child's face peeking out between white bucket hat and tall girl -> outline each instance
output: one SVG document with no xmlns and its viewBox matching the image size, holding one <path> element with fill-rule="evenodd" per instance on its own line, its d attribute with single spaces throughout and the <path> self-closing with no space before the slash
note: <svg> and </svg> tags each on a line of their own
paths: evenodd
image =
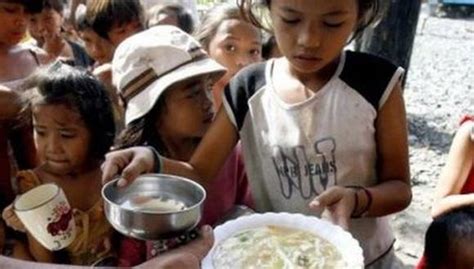
<svg viewBox="0 0 474 269">
<path fill-rule="evenodd" d="M 209 42 L 209 55 L 227 68 L 230 80 L 243 67 L 262 59 L 259 30 L 243 20 L 223 21 Z"/>
</svg>

